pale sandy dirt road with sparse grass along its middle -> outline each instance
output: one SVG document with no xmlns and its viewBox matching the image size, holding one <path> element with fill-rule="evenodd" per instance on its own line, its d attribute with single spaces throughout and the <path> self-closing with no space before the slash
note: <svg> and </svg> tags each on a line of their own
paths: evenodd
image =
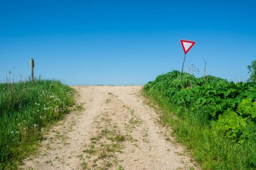
<svg viewBox="0 0 256 170">
<path fill-rule="evenodd" d="M 84 110 L 53 126 L 21 169 L 199 169 L 158 124 L 141 87 L 73 88 Z"/>
</svg>

